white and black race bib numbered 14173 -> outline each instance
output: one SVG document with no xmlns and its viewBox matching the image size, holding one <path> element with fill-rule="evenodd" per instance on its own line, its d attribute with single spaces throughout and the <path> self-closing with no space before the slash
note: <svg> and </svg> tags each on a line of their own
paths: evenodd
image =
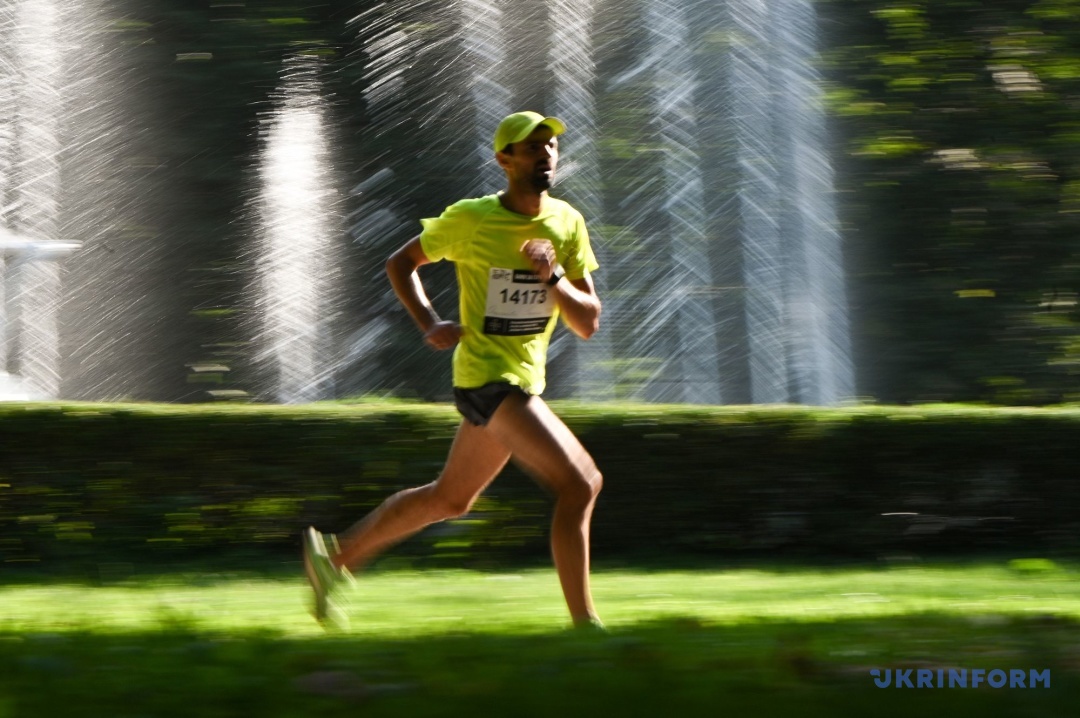
<svg viewBox="0 0 1080 718">
<path fill-rule="evenodd" d="M 492 267 L 487 275 L 484 334 L 503 337 L 541 334 L 555 311 L 550 288 L 528 270 Z"/>
</svg>

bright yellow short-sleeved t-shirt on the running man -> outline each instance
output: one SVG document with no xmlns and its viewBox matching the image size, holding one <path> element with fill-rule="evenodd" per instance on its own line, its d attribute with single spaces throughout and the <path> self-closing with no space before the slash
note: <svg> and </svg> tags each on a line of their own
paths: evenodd
<svg viewBox="0 0 1080 718">
<path fill-rule="evenodd" d="M 581 213 L 548 197 L 538 216 L 526 217 L 488 194 L 420 222 L 423 254 L 431 261 L 448 259 L 457 270 L 464 331 L 454 351 L 454 385 L 507 381 L 530 394 L 542 392 L 558 308 L 521 247 L 528 240 L 549 240 L 567 279 L 583 277 L 598 265 Z"/>
</svg>

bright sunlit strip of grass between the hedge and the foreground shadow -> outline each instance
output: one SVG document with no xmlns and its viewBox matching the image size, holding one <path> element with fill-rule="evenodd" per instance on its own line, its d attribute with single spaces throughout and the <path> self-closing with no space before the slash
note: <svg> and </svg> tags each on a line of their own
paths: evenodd
<svg viewBox="0 0 1080 718">
<path fill-rule="evenodd" d="M 1075 570 L 1014 566 L 608 570 L 594 577 L 593 591 L 605 622 L 616 631 L 673 619 L 738 625 L 920 613 L 1080 621 Z M 153 629 L 167 620 L 198 631 L 322 636 L 307 614 L 308 587 L 298 577 L 299 566 L 295 575 L 281 578 L 191 573 L 105 586 L 10 586 L 0 588 L 0 631 L 125 633 Z M 357 636 L 542 634 L 567 625 L 552 569 L 377 571 L 361 577 L 348 599 L 354 624 L 349 633 Z"/>
</svg>

